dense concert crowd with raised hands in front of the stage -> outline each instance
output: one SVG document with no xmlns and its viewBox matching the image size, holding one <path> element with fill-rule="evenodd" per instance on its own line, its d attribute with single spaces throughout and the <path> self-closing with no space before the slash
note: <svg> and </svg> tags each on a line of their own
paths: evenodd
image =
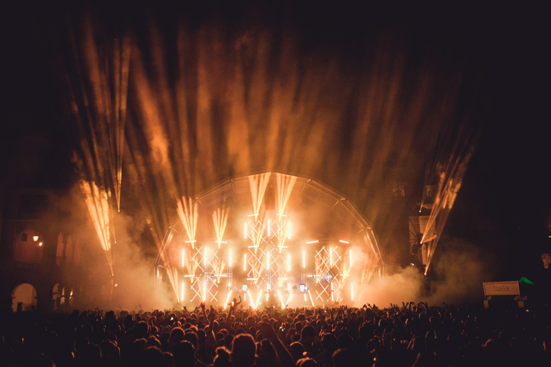
<svg viewBox="0 0 551 367">
<path fill-rule="evenodd" d="M 236 301 L 236 300 L 235 300 Z M 2 366 L 550 366 L 547 306 L 73 311 L 3 315 Z"/>
</svg>

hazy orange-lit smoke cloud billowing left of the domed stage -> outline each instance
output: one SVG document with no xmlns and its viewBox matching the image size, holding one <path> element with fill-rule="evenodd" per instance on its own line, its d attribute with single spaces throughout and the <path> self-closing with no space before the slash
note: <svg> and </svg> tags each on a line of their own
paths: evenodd
<svg viewBox="0 0 551 367">
<path fill-rule="evenodd" d="M 155 246 L 144 235 L 149 229 L 143 226 L 147 218 L 143 210 L 138 209 L 132 216 L 113 213 L 116 243 L 112 242 L 114 277 L 111 282 L 110 269 L 79 185 L 55 201 L 59 217 L 50 226 L 62 230 L 64 242 L 71 235 L 73 243 L 78 241 L 80 247 L 81 255 L 74 266 L 68 264 L 66 268 L 70 279 L 62 284 L 66 291 L 82 289 L 74 299 L 74 308 L 94 309 L 98 306 L 111 310 L 150 311 L 173 306 L 167 289 L 155 289 L 153 264 L 156 251 L 152 251 Z M 50 249 L 50 253 L 53 252 L 54 249 Z"/>
</svg>

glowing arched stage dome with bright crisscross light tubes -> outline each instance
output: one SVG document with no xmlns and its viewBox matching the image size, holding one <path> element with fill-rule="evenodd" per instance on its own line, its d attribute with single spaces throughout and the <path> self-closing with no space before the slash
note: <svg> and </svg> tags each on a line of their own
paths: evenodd
<svg viewBox="0 0 551 367">
<path fill-rule="evenodd" d="M 157 291 L 180 306 L 358 304 L 383 276 L 373 228 L 350 200 L 310 178 L 231 178 L 178 200 L 155 263 Z"/>
</svg>

